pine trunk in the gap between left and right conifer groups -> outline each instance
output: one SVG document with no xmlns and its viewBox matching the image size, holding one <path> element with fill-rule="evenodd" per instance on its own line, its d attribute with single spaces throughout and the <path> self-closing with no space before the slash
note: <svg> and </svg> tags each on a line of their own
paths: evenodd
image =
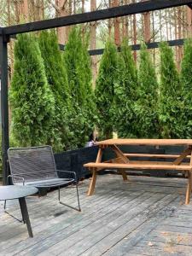
<svg viewBox="0 0 192 256">
<path fill-rule="evenodd" d="M 90 11 L 96 10 L 96 0 L 90 0 Z M 90 49 L 96 49 L 96 22 L 92 22 L 90 24 Z M 95 87 L 96 84 L 96 55 L 91 56 L 91 63 L 92 63 L 92 72 L 93 72 L 93 86 Z"/>
</svg>

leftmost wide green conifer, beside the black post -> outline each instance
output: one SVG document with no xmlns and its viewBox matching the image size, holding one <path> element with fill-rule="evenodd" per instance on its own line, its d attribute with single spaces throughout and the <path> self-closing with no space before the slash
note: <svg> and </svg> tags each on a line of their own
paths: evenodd
<svg viewBox="0 0 192 256">
<path fill-rule="evenodd" d="M 15 142 L 24 147 L 48 143 L 55 101 L 45 76 L 38 42 L 31 34 L 17 37 L 9 98 Z"/>
</svg>

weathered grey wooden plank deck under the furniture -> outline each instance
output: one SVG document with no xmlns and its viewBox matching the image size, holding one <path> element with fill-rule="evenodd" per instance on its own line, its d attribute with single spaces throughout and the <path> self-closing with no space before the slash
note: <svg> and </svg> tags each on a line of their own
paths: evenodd
<svg viewBox="0 0 192 256">
<path fill-rule="evenodd" d="M 192 203 L 183 205 L 183 178 L 98 177 L 88 197 L 89 180 L 79 186 L 82 212 L 57 203 L 57 192 L 27 198 L 34 238 L 26 225 L 0 210 L 0 255 L 192 255 Z M 73 203 L 75 189 L 62 189 Z M 75 206 L 75 204 L 73 204 Z M 9 212 L 20 217 L 17 201 Z"/>
</svg>

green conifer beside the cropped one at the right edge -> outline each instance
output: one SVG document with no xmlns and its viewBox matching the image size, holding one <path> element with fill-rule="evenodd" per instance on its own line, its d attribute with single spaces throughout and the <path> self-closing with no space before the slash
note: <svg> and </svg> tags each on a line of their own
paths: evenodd
<svg viewBox="0 0 192 256">
<path fill-rule="evenodd" d="M 160 102 L 159 119 L 161 137 L 182 137 L 181 86 L 172 49 L 160 44 Z"/>
</svg>

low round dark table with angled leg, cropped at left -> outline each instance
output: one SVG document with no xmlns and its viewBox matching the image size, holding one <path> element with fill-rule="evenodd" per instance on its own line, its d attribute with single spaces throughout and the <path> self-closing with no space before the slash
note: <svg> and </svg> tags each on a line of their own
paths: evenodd
<svg viewBox="0 0 192 256">
<path fill-rule="evenodd" d="M 24 224 L 26 224 L 28 234 L 30 237 L 32 235 L 32 227 L 29 219 L 29 214 L 26 207 L 26 196 L 33 195 L 38 192 L 37 188 L 31 186 L 19 186 L 19 185 L 9 185 L 0 186 L 0 201 L 7 201 L 18 199 L 20 202 L 20 212 L 23 218 Z"/>
</svg>

